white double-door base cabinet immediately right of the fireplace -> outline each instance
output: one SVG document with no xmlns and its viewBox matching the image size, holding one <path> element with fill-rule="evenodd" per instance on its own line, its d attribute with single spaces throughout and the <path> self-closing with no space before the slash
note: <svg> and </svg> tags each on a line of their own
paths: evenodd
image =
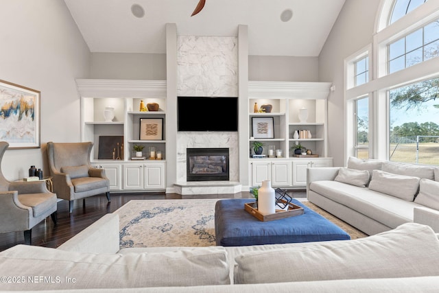
<svg viewBox="0 0 439 293">
<path fill-rule="evenodd" d="M 270 180 L 273 187 L 288 187 L 292 185 L 292 162 L 287 160 L 252 161 L 252 186 L 262 185 L 263 180 Z"/>
</svg>

